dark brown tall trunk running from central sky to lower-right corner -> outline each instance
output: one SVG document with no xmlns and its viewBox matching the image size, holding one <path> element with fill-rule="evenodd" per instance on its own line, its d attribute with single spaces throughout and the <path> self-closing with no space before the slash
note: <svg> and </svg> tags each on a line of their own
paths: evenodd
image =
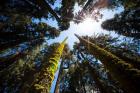
<svg viewBox="0 0 140 93">
<path fill-rule="evenodd" d="M 128 93 L 140 93 L 140 70 L 133 68 L 132 65 L 78 35 L 76 37 L 88 49 L 89 53 L 105 65 L 125 91 Z"/>
</svg>

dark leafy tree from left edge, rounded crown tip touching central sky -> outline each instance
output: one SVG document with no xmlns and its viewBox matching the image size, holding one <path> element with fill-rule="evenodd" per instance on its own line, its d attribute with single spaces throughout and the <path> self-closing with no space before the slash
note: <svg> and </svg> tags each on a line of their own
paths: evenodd
<svg viewBox="0 0 140 93">
<path fill-rule="evenodd" d="M 19 17 L 20 15 L 18 15 Z M 25 17 L 26 19 L 26 17 Z M 18 44 L 34 41 L 36 39 L 55 38 L 59 36 L 60 30 L 49 26 L 46 23 L 39 22 L 20 22 L 21 19 L 16 20 L 14 23 L 5 23 L 1 28 L 1 50 L 16 46 Z"/>
</svg>

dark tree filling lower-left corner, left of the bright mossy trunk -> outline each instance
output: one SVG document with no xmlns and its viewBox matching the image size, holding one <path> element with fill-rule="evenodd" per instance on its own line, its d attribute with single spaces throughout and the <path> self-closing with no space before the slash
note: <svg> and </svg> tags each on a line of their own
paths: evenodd
<svg viewBox="0 0 140 93">
<path fill-rule="evenodd" d="M 42 43 L 30 46 L 25 55 L 19 56 L 8 67 L 0 71 L 0 92 L 19 93 L 23 83 L 29 79 L 29 75 L 36 72 L 35 60 L 38 58 Z"/>
</svg>

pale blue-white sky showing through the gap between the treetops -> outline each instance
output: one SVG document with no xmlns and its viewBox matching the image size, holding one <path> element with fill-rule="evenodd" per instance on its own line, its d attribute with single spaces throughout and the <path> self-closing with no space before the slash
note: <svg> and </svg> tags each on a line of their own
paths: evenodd
<svg viewBox="0 0 140 93">
<path fill-rule="evenodd" d="M 77 7 L 75 7 L 74 12 L 77 12 L 78 10 L 80 10 L 80 8 L 77 6 Z M 86 18 L 83 22 L 81 22 L 79 24 L 75 24 L 73 21 L 71 21 L 70 27 L 68 30 L 61 32 L 59 37 L 57 37 L 55 39 L 50 39 L 48 42 L 49 42 L 49 44 L 52 44 L 54 42 L 61 42 L 64 40 L 65 37 L 68 36 L 67 44 L 69 45 L 69 47 L 71 49 L 73 49 L 74 42 L 78 42 L 78 39 L 74 36 L 74 34 L 78 34 L 80 36 L 82 36 L 82 35 L 91 36 L 93 34 L 100 34 L 100 33 L 109 34 L 108 31 L 103 30 L 101 28 L 101 23 L 106 19 L 110 19 L 110 18 L 114 17 L 115 13 L 120 13 L 122 10 L 123 9 L 121 7 L 119 7 L 115 11 L 107 10 L 107 9 L 102 10 L 101 13 L 104 16 L 99 22 L 96 22 L 90 18 Z M 55 22 L 55 21 L 49 20 L 49 21 L 47 21 L 47 23 L 49 23 L 50 25 L 52 25 L 54 27 L 57 27 L 57 22 Z M 117 35 L 113 32 L 110 34 L 113 34 L 113 36 Z"/>
</svg>

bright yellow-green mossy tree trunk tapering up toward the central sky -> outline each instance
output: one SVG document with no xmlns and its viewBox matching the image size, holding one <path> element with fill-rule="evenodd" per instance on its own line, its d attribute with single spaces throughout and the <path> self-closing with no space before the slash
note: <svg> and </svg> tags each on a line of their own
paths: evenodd
<svg viewBox="0 0 140 93">
<path fill-rule="evenodd" d="M 56 48 L 49 58 L 49 61 L 43 65 L 41 71 L 35 76 L 29 89 L 30 93 L 49 93 L 66 39 Z"/>
</svg>

